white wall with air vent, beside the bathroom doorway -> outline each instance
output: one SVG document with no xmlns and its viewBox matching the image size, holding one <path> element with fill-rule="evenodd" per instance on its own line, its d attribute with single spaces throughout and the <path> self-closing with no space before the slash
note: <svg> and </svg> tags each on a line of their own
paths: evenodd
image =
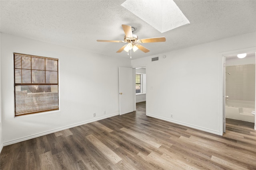
<svg viewBox="0 0 256 170">
<path fill-rule="evenodd" d="M 248 33 L 132 60 L 132 67 L 147 65 L 146 115 L 222 135 L 222 53 L 256 47 L 255 37 Z"/>
</svg>

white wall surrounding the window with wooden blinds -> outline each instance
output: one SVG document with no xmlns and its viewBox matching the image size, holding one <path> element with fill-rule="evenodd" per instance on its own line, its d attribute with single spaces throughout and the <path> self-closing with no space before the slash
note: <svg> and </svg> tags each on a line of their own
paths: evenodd
<svg viewBox="0 0 256 170">
<path fill-rule="evenodd" d="M 14 52 L 59 59 L 59 111 L 14 118 Z M 130 59 L 1 33 L 4 145 L 119 114 L 119 66 L 130 67 Z"/>
</svg>

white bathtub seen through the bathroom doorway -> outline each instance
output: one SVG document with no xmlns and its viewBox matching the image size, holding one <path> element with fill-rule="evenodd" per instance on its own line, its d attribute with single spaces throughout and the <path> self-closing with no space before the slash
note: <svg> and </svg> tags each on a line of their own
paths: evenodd
<svg viewBox="0 0 256 170">
<path fill-rule="evenodd" d="M 226 100 L 226 118 L 254 122 L 255 102 L 243 100 Z"/>
</svg>

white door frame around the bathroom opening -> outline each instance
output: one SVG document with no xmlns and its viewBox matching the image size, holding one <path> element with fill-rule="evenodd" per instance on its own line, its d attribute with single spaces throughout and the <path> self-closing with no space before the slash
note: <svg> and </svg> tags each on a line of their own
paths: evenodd
<svg viewBox="0 0 256 170">
<path fill-rule="evenodd" d="M 225 116 L 225 113 L 224 113 L 224 103 L 226 104 L 226 100 L 224 100 L 224 96 L 226 96 L 225 94 L 225 90 L 224 88 L 226 89 L 226 83 L 224 84 L 224 81 L 226 82 L 226 79 L 224 80 L 225 78 L 225 73 L 226 73 L 226 68 L 224 67 L 224 57 L 226 55 L 232 55 L 232 54 L 240 54 L 240 53 L 253 53 L 255 52 L 256 54 L 256 47 L 250 47 L 250 48 L 244 48 L 244 49 L 237 49 L 237 50 L 233 50 L 233 51 L 226 51 L 226 52 L 221 52 L 219 53 L 219 59 L 222 61 L 222 64 L 221 64 L 221 68 L 220 68 L 220 77 L 221 77 L 221 83 L 220 83 L 220 89 L 221 89 L 221 93 L 220 93 L 220 135 L 223 135 L 224 133 L 224 116 Z M 256 58 L 256 57 L 255 57 Z M 256 72 L 256 70 L 255 70 Z M 256 76 L 255 76 L 255 80 L 256 80 Z M 255 84 L 255 89 L 256 89 L 256 84 Z M 255 91 L 255 101 L 256 101 L 256 91 Z M 255 108 L 256 108 L 256 104 L 255 104 Z M 226 119 L 226 117 L 225 117 Z M 256 130 L 256 116 L 255 116 L 255 121 L 254 121 L 254 130 Z"/>
</svg>

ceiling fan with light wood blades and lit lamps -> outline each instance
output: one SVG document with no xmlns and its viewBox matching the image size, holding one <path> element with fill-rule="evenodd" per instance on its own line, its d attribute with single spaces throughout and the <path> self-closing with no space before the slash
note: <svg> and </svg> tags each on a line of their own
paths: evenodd
<svg viewBox="0 0 256 170">
<path fill-rule="evenodd" d="M 134 52 L 138 49 L 143 51 L 144 53 L 148 53 L 149 49 L 146 49 L 140 43 L 157 43 L 157 42 L 165 42 L 165 37 L 156 37 L 156 38 L 146 38 L 146 39 L 138 39 L 138 36 L 135 34 L 132 34 L 133 31 L 136 29 L 134 27 L 131 27 L 130 25 L 122 25 L 124 29 L 124 41 L 118 41 L 118 40 L 97 40 L 98 42 L 112 42 L 112 43 L 127 43 L 123 47 L 121 47 L 116 53 L 120 53 L 123 50 L 128 52 L 129 50 L 133 50 Z"/>
</svg>

